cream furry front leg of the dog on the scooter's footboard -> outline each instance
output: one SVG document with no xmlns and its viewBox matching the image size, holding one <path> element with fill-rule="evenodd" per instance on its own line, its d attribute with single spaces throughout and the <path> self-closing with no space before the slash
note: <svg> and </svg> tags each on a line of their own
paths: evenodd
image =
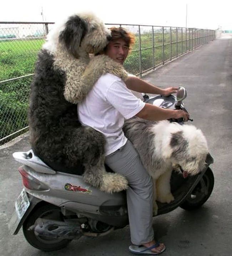
<svg viewBox="0 0 232 256">
<path fill-rule="evenodd" d="M 157 201 L 161 203 L 170 203 L 174 200 L 171 193 L 170 179 L 172 169 L 166 171 L 156 180 Z"/>
</svg>

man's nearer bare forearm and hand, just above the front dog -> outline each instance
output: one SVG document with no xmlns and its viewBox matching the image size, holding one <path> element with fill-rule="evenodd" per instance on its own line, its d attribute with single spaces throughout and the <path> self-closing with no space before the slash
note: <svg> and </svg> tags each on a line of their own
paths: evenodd
<svg viewBox="0 0 232 256">
<path fill-rule="evenodd" d="M 137 117 L 153 120 L 153 121 L 161 121 L 167 119 L 178 119 L 183 117 L 184 121 L 188 121 L 189 114 L 183 110 L 172 110 L 172 109 L 162 109 L 161 107 L 157 107 L 151 104 L 145 104 L 145 106 L 136 114 Z"/>
</svg>

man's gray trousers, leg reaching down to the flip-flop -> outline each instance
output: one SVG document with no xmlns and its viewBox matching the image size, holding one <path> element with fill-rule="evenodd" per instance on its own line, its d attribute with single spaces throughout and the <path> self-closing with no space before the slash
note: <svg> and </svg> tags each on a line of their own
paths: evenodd
<svg viewBox="0 0 232 256">
<path fill-rule="evenodd" d="M 141 245 L 152 241 L 153 184 L 137 151 L 127 140 L 124 146 L 106 156 L 105 162 L 128 180 L 126 195 L 132 244 Z"/>
</svg>

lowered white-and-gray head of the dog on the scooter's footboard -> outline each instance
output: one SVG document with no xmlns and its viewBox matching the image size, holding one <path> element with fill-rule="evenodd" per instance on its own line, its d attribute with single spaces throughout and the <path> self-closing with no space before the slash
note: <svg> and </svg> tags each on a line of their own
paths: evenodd
<svg viewBox="0 0 232 256">
<path fill-rule="evenodd" d="M 182 131 L 172 133 L 170 147 L 174 168 L 186 177 L 196 175 L 205 168 L 208 147 L 201 130 L 184 126 Z"/>
</svg>

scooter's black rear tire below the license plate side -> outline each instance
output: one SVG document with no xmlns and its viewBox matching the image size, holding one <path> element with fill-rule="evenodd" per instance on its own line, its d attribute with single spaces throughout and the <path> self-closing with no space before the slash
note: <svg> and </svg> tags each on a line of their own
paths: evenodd
<svg viewBox="0 0 232 256">
<path fill-rule="evenodd" d="M 35 224 L 35 221 L 38 218 L 43 217 L 46 217 L 46 219 L 63 221 L 59 207 L 47 203 L 37 205 L 37 207 L 29 214 L 22 226 L 22 230 L 27 242 L 42 251 L 59 250 L 67 246 L 72 240 L 37 236 L 34 233 L 34 229 L 28 230 L 29 227 Z"/>
</svg>

